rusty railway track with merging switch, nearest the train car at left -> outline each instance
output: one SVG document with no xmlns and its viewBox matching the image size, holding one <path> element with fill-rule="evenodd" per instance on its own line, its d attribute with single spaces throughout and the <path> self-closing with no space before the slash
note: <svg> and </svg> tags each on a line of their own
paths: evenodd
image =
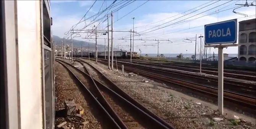
<svg viewBox="0 0 256 129">
<path fill-rule="evenodd" d="M 117 92 L 118 87 L 113 86 L 113 82 L 111 83 L 110 80 L 110 82 L 105 81 L 108 79 L 105 78 L 103 74 L 101 74 L 99 71 L 97 72 L 96 69 L 94 69 L 95 71 L 93 73 L 93 66 L 91 66 L 91 69 L 89 69 L 88 64 L 86 65 L 85 62 L 77 60 L 79 63 L 83 64 L 85 68 L 81 69 L 75 68 L 75 66 L 65 61 L 58 61 L 65 64 L 67 68 L 73 71 L 75 76 L 78 77 L 81 82 L 86 83 L 87 85 L 91 84 L 91 86 L 87 86 L 87 89 L 99 99 L 100 104 L 102 104 L 105 110 L 109 112 L 113 120 L 122 129 L 174 129 L 170 124 L 166 123 L 158 116 L 154 115 L 145 107 L 139 107 L 139 103 L 137 102 L 138 104 L 136 104 L 136 101 L 134 99 L 132 99 L 124 92 L 120 92 L 122 91 L 121 89 L 119 90 L 119 92 Z M 87 81 L 84 80 L 84 77 L 87 77 Z M 89 81 L 90 79 L 91 81 Z M 115 89 L 115 91 L 110 89 L 111 87 L 115 87 L 113 88 Z"/>
</svg>

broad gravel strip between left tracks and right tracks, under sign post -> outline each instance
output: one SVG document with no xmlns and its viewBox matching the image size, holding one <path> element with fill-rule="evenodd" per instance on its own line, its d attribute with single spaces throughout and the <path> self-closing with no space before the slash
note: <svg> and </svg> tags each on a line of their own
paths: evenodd
<svg viewBox="0 0 256 129">
<path fill-rule="evenodd" d="M 88 61 L 88 60 L 86 60 Z M 122 76 L 122 71 L 107 70 L 107 66 L 89 61 L 138 102 L 177 129 L 255 129 L 255 125 L 234 116 L 220 116 L 210 107 L 170 94 L 167 91 L 152 88 L 162 83 L 143 82 L 148 80 L 141 76 Z M 215 121 L 221 118 L 221 121 Z M 236 125 L 238 124 L 238 125 Z"/>
</svg>

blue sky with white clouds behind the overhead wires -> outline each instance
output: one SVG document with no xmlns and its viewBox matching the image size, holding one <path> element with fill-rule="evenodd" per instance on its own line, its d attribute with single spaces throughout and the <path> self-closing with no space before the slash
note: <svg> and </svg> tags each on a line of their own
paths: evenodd
<svg viewBox="0 0 256 129">
<path fill-rule="evenodd" d="M 239 22 L 253 19 L 256 14 L 255 6 L 235 9 L 239 6 L 235 4 L 245 4 L 245 0 L 135 0 L 131 2 L 117 0 L 112 9 L 107 11 L 105 9 L 114 2 L 113 0 L 94 2 L 95 0 L 51 0 L 53 35 L 70 38 L 70 35 L 65 33 L 70 32 L 72 26 L 80 20 L 82 22 L 73 26 L 74 30 L 92 29 L 95 25 L 97 30 L 103 32 L 107 30 L 106 14 L 113 11 L 113 46 L 119 46 L 119 49 L 130 50 L 129 31 L 133 30 L 134 25 L 134 31 L 139 33 L 139 35 L 134 33 L 134 51 L 136 52 L 140 49 L 142 53 L 157 53 L 157 41 L 143 40 L 156 39 L 160 40 L 159 53 L 194 53 L 195 40 L 197 41 L 196 53 L 199 53 L 200 38 L 198 37 L 204 36 L 204 25 L 231 19 L 237 19 Z M 117 10 L 126 2 L 129 3 Z M 247 2 L 253 2 L 256 5 L 255 0 Z M 247 17 L 233 13 L 233 9 L 238 13 L 246 14 Z M 85 14 L 86 16 L 83 17 Z M 111 18 L 109 15 L 109 29 L 112 28 Z M 87 27 L 84 28 L 85 26 Z M 90 35 L 93 34 L 79 33 L 73 39 L 95 43 L 94 39 L 85 39 L 88 36 L 95 38 L 95 34 Z M 109 36 L 111 38 L 111 33 Z M 107 35 L 99 34 L 97 38 L 97 44 L 104 44 L 104 38 L 107 39 Z M 191 40 L 185 40 L 186 38 Z M 204 38 L 201 41 L 204 44 Z M 211 50 L 207 48 L 206 51 L 218 52 L 214 48 Z M 238 53 L 238 47 L 228 47 L 224 49 L 224 53 Z"/>
</svg>

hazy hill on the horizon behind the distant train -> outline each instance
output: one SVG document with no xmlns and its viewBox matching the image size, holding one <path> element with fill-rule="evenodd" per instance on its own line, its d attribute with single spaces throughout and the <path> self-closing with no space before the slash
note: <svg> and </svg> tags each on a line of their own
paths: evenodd
<svg viewBox="0 0 256 129">
<path fill-rule="evenodd" d="M 60 50 L 62 46 L 63 38 L 53 35 L 53 41 L 55 42 L 56 49 Z M 71 39 L 65 39 L 65 44 L 71 44 Z M 90 50 L 92 51 L 95 50 L 95 42 L 86 42 L 86 41 L 79 41 L 79 40 L 73 39 L 73 48 L 74 48 L 73 50 L 76 50 L 76 49 L 80 50 L 81 45 L 83 47 L 83 51 L 86 49 L 89 49 L 89 45 L 90 45 Z M 104 45 L 97 45 L 97 46 L 98 46 L 98 52 L 104 51 Z M 107 44 L 106 44 L 106 50 L 107 50 Z M 114 50 L 117 50 L 117 48 L 114 47 Z"/>
</svg>

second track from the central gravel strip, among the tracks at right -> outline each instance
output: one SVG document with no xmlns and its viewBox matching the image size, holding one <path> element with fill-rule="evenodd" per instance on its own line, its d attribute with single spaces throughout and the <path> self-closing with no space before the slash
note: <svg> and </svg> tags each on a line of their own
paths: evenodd
<svg viewBox="0 0 256 129">
<path fill-rule="evenodd" d="M 122 63 L 123 65 L 134 66 L 135 64 L 130 64 L 127 62 L 118 61 L 118 63 Z M 158 73 L 164 76 L 172 77 L 175 79 L 188 80 L 193 83 L 200 83 L 208 87 L 217 88 L 218 79 L 216 77 L 211 76 L 202 76 L 200 74 L 192 74 L 189 72 L 181 72 L 175 71 L 166 68 L 153 67 L 148 65 L 139 65 L 136 64 L 136 67 L 139 69 L 144 69 L 145 71 L 152 71 L 154 69 L 154 73 Z M 244 83 L 235 80 L 224 79 L 224 90 L 233 91 L 240 94 L 244 94 L 248 97 L 255 98 L 256 94 L 256 85 L 254 83 Z"/>
</svg>

